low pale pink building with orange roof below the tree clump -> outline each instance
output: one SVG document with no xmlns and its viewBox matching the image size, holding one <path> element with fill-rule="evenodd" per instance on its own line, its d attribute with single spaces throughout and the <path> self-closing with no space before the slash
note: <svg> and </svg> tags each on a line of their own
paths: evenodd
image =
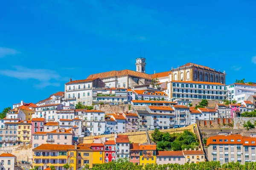
<svg viewBox="0 0 256 170">
<path fill-rule="evenodd" d="M 157 151 L 157 164 L 185 164 L 182 151 Z"/>
</svg>

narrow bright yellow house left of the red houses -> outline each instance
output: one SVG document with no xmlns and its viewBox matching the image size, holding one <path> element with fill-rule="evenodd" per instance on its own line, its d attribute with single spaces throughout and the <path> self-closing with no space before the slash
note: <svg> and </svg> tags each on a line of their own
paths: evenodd
<svg viewBox="0 0 256 170">
<path fill-rule="evenodd" d="M 93 164 L 105 163 L 104 144 L 92 143 L 91 149 L 93 150 Z"/>
</svg>

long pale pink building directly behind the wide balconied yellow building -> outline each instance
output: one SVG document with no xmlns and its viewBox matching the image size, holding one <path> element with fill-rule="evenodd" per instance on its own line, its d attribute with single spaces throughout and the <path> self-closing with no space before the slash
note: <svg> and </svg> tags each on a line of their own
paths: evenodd
<svg viewBox="0 0 256 170">
<path fill-rule="evenodd" d="M 51 132 L 35 132 L 32 134 L 32 149 L 41 144 L 72 144 L 72 131 L 56 129 Z"/>
</svg>

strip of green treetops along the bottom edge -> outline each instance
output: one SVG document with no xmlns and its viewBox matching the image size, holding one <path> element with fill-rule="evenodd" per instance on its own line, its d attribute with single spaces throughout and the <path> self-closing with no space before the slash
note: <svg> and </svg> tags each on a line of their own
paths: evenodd
<svg viewBox="0 0 256 170">
<path fill-rule="evenodd" d="M 219 161 L 207 161 L 185 164 L 147 164 L 144 169 L 141 165 L 133 164 L 128 159 L 119 159 L 105 164 L 96 164 L 92 170 L 255 170 L 256 162 L 229 162 L 222 164 Z"/>
</svg>

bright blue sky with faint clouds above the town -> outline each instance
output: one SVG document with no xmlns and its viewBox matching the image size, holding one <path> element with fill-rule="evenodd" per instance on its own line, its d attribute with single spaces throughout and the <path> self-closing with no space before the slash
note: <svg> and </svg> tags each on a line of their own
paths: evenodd
<svg viewBox="0 0 256 170">
<path fill-rule="evenodd" d="M 64 83 L 193 62 L 256 82 L 255 1 L 13 0 L 0 6 L 0 111 L 38 102 Z"/>
</svg>

